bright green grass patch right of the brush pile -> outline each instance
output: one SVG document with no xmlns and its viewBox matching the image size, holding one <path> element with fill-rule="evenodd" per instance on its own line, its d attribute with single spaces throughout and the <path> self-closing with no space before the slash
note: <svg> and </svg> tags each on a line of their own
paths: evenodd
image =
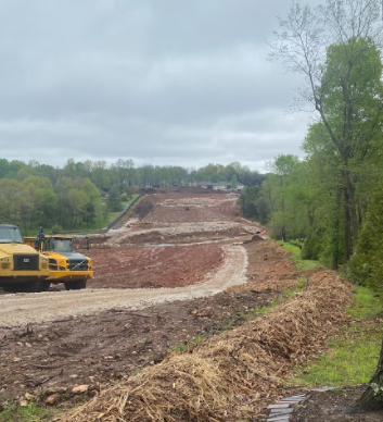
<svg viewBox="0 0 383 422">
<path fill-rule="evenodd" d="M 381 321 L 374 318 L 382 312 L 382 301 L 366 287 L 354 290 L 348 314 L 358 320 L 344 326 L 343 333 L 329 342 L 329 350 L 315 363 L 298 369 L 292 380 L 294 384 L 341 386 L 371 380 L 382 344 Z"/>
</svg>

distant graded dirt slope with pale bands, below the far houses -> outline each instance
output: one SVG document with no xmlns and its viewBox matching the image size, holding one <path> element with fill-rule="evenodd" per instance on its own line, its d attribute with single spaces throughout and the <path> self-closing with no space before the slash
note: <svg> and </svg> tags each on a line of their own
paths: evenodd
<svg viewBox="0 0 383 422">
<path fill-rule="evenodd" d="M 140 222 L 122 227 L 106 245 L 194 244 L 252 235 L 259 228 L 239 216 L 238 198 L 216 193 L 148 196 L 138 206 Z"/>
</svg>

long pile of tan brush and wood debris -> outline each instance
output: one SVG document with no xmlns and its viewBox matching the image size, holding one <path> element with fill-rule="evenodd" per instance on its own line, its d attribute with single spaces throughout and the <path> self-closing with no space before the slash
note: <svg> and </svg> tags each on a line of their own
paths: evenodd
<svg viewBox="0 0 383 422">
<path fill-rule="evenodd" d="M 330 271 L 267 314 L 105 388 L 64 421 L 229 421 L 254 418 L 295 364 L 345 320 L 347 283 Z"/>
</svg>

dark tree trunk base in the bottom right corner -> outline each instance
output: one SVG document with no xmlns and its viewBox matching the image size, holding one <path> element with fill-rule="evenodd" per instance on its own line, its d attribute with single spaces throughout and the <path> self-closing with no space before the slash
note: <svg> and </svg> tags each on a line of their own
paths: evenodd
<svg viewBox="0 0 383 422">
<path fill-rule="evenodd" d="M 356 402 L 354 410 L 383 410 L 383 342 L 378 368 L 366 392 Z"/>
</svg>

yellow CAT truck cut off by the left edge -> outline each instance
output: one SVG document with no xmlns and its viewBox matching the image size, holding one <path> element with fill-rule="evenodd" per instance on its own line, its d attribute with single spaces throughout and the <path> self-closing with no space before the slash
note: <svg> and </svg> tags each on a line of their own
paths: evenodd
<svg viewBox="0 0 383 422">
<path fill-rule="evenodd" d="M 5 291 L 41 291 L 49 276 L 48 258 L 24 245 L 16 225 L 0 224 L 0 287 Z"/>
</svg>

